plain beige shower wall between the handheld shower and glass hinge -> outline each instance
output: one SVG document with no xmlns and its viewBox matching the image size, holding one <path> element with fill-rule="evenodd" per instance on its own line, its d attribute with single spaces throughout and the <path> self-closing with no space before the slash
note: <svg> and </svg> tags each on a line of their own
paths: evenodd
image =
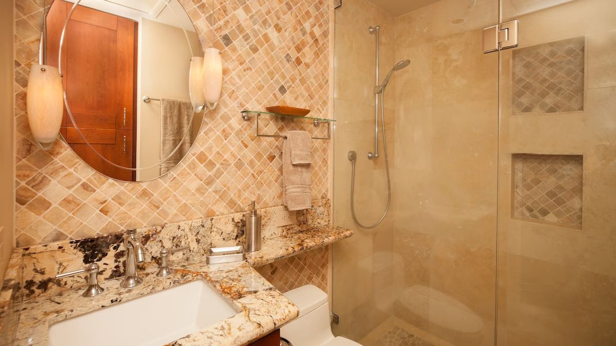
<svg viewBox="0 0 616 346">
<path fill-rule="evenodd" d="M 493 345 L 498 1 L 443 0 L 395 18 L 394 316 L 453 345 Z"/>
</svg>

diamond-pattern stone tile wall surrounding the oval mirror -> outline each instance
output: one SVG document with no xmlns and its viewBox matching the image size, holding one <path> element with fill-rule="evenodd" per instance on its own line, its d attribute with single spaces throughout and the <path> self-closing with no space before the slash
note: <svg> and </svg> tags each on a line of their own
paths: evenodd
<svg viewBox="0 0 616 346">
<path fill-rule="evenodd" d="M 257 138 L 241 110 L 309 108 L 328 118 L 326 1 L 180 0 L 203 47 L 221 49 L 224 83 L 187 157 L 161 179 L 118 182 L 93 171 L 57 141 L 40 150 L 28 127 L 26 86 L 38 60 L 41 0 L 15 0 L 17 246 L 113 233 L 282 204 L 282 140 Z M 280 122 L 277 131 L 306 128 Z M 323 131 L 323 129 L 314 129 Z M 312 196 L 328 195 L 328 141 L 312 142 Z"/>
</svg>

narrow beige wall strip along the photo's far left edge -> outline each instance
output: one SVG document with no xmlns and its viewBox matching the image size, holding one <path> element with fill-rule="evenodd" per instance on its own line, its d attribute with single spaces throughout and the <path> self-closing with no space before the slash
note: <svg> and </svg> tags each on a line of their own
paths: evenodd
<svg viewBox="0 0 616 346">
<path fill-rule="evenodd" d="M 0 279 L 14 247 L 13 7 L 10 0 L 0 3 Z"/>
</svg>

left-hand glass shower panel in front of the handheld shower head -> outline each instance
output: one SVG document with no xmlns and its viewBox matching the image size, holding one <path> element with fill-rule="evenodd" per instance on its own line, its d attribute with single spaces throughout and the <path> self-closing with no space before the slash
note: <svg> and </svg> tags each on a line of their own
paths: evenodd
<svg viewBox="0 0 616 346">
<path fill-rule="evenodd" d="M 482 53 L 482 28 L 496 23 L 498 0 L 397 15 L 345 0 L 335 10 L 333 222 L 355 234 L 333 246 L 334 334 L 363 345 L 494 345 L 498 53 Z M 387 202 L 383 153 L 367 158 L 375 25 L 381 79 L 411 63 L 384 95 L 391 208 L 366 230 L 351 217 L 347 155 L 357 153 L 354 205 L 369 225 Z"/>
</svg>

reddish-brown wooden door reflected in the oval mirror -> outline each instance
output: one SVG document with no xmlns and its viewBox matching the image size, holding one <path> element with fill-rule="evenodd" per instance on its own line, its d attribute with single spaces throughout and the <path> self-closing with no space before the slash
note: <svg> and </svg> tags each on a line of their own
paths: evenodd
<svg viewBox="0 0 616 346">
<path fill-rule="evenodd" d="M 54 1 L 47 15 L 47 62 L 57 66 L 60 33 L 72 4 Z M 73 118 L 100 155 L 135 167 L 137 23 L 78 6 L 71 15 L 63 45 L 63 84 Z M 60 130 L 87 164 L 109 177 L 134 180 L 134 173 L 114 167 L 94 153 L 65 115 Z"/>
</svg>

